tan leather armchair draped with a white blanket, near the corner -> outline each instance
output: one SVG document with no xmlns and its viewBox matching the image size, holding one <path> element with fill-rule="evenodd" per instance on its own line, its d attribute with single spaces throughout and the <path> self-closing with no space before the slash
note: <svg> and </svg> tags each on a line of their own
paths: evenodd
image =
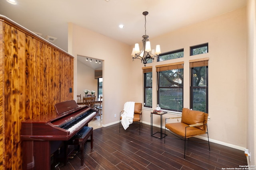
<svg viewBox="0 0 256 170">
<path fill-rule="evenodd" d="M 119 133 L 120 133 L 120 128 L 122 127 L 121 125 L 121 119 L 122 119 L 122 113 L 124 110 L 120 111 L 120 121 L 119 121 Z M 135 103 L 134 104 L 134 117 L 133 117 L 133 122 L 132 124 L 138 123 L 142 127 L 142 103 Z M 140 127 L 139 127 L 140 130 Z"/>
</svg>

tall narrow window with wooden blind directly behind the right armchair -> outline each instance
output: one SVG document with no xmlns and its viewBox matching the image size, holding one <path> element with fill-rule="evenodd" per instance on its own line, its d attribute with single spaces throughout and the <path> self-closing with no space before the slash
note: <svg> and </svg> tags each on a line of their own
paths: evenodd
<svg viewBox="0 0 256 170">
<path fill-rule="evenodd" d="M 208 58 L 190 61 L 190 108 L 208 113 Z"/>
</svg>

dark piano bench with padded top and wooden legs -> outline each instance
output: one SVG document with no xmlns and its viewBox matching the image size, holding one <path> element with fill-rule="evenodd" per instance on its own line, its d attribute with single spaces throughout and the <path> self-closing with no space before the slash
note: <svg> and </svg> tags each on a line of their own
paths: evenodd
<svg viewBox="0 0 256 170">
<path fill-rule="evenodd" d="M 90 140 L 88 138 L 91 137 Z M 78 145 L 80 147 L 81 154 L 81 166 L 84 165 L 84 144 L 86 141 L 91 142 L 91 149 L 93 149 L 93 127 L 85 126 L 83 127 L 74 137 L 72 137 L 69 141 L 65 142 L 66 147 L 66 162 L 68 162 L 68 145 Z"/>
</svg>

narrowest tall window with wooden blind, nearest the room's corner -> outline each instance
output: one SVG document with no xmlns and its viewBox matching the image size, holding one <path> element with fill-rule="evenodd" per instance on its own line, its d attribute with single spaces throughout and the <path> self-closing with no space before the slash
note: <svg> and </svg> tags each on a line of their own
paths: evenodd
<svg viewBox="0 0 256 170">
<path fill-rule="evenodd" d="M 144 67 L 144 107 L 152 107 L 152 66 Z"/>
</svg>

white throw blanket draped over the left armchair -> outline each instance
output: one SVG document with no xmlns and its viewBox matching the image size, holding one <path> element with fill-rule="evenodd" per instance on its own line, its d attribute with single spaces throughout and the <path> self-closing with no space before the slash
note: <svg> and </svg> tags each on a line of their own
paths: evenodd
<svg viewBox="0 0 256 170">
<path fill-rule="evenodd" d="M 133 116 L 134 116 L 134 104 L 135 102 L 126 102 L 124 104 L 124 113 L 121 115 L 121 123 L 126 130 L 130 124 L 132 124 Z"/>
</svg>

